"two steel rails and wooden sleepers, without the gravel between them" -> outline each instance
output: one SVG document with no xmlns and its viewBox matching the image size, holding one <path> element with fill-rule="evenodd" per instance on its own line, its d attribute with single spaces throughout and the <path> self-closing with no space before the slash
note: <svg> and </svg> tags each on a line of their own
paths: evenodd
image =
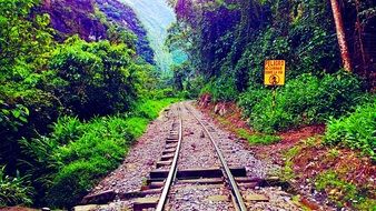
<svg viewBox="0 0 376 211">
<path fill-rule="evenodd" d="M 230 169 L 225 160 L 225 157 L 217 145 L 216 141 L 211 137 L 210 131 L 206 127 L 206 122 L 200 120 L 194 112 L 189 110 L 189 108 L 186 104 L 180 104 L 179 107 L 179 118 L 176 120 L 178 123 L 172 123 L 171 130 L 169 131 L 169 138 L 166 140 L 166 148 L 162 152 L 162 158 L 159 162 L 157 162 L 157 168 L 161 167 L 169 167 L 167 170 L 166 168 L 157 169 L 156 171 L 150 172 L 148 188 L 160 188 L 161 184 L 164 187 L 161 188 L 162 192 L 160 194 L 160 198 L 158 200 L 158 203 L 156 204 L 156 201 L 149 198 L 150 200 L 139 200 L 136 203 L 133 203 L 133 210 L 144 210 L 144 209 L 152 209 L 156 208 L 157 211 L 162 210 L 175 210 L 174 204 L 169 202 L 171 189 L 176 183 L 189 183 L 188 187 L 191 187 L 192 184 L 201 184 L 202 187 L 205 184 L 222 184 L 226 189 L 229 189 L 229 195 L 228 198 L 221 198 L 221 200 L 227 201 L 231 203 L 231 205 L 228 205 L 228 208 L 232 208 L 234 210 L 240 210 L 246 211 L 247 207 L 244 202 L 243 194 L 238 188 L 238 183 L 236 181 L 236 178 L 234 177 L 234 171 L 237 175 L 241 175 L 241 178 L 237 178 L 238 181 L 243 179 L 243 182 L 253 182 L 255 184 L 254 180 L 245 180 L 246 171 L 243 168 L 237 169 Z M 178 169 L 178 161 L 179 161 L 179 153 L 180 148 L 184 142 L 182 140 L 182 128 L 184 128 L 184 120 L 181 117 L 181 112 L 185 110 L 188 112 L 191 117 L 196 119 L 196 121 L 200 124 L 202 132 L 205 133 L 202 138 L 209 139 L 211 147 L 215 149 L 216 155 L 219 159 L 220 168 L 200 168 L 200 169 L 185 169 L 179 170 Z M 172 153 L 174 152 L 174 157 Z M 166 159 L 172 159 L 167 160 Z M 167 178 L 165 179 L 165 177 Z M 165 181 L 165 182 L 162 182 Z M 159 184 L 159 185 L 158 185 Z M 218 187 L 218 185 L 217 185 Z M 212 187 L 212 188 L 217 188 Z M 208 188 L 210 189 L 210 187 Z M 174 193 L 174 191 L 172 191 Z M 191 203 L 191 201 L 186 201 L 187 203 Z M 199 203 L 199 202 L 198 202 Z M 156 205 L 156 207 L 155 207 Z M 172 207 L 172 208 L 171 208 Z"/>
</svg>

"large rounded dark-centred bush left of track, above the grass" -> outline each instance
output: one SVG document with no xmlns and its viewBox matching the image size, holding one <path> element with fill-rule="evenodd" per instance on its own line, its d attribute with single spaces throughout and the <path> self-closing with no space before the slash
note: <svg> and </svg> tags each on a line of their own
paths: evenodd
<svg viewBox="0 0 376 211">
<path fill-rule="evenodd" d="M 61 79 L 55 92 L 82 118 L 127 111 L 147 77 L 142 67 L 132 61 L 133 56 L 133 50 L 122 43 L 68 39 L 50 62 Z"/>
</svg>

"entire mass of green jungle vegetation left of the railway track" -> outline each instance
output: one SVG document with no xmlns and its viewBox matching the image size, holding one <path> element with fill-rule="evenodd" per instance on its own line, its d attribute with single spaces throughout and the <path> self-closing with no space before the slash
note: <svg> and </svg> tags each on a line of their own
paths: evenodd
<svg viewBox="0 0 376 211">
<path fill-rule="evenodd" d="M 77 204 L 176 101 L 158 89 L 137 26 L 118 26 L 96 6 L 107 31 L 90 40 L 85 28 L 51 28 L 41 3 L 0 1 L 0 207 Z"/>
</svg>

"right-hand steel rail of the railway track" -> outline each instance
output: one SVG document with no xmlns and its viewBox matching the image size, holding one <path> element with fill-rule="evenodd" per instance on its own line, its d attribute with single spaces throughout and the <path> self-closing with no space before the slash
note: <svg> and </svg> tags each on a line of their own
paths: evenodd
<svg viewBox="0 0 376 211">
<path fill-rule="evenodd" d="M 187 110 L 189 110 L 188 108 L 186 108 Z M 216 148 L 217 154 L 219 157 L 219 160 L 224 167 L 225 170 L 225 174 L 227 175 L 227 179 L 229 180 L 230 187 L 231 187 L 231 191 L 235 194 L 235 200 L 237 202 L 238 209 L 240 211 L 247 211 L 246 204 L 244 203 L 241 193 L 239 191 L 238 185 L 235 182 L 235 178 L 230 171 L 230 169 L 228 168 L 228 164 L 224 158 L 224 154 L 221 153 L 220 149 L 218 148 L 217 143 L 214 141 L 214 138 L 211 137 L 210 132 L 206 129 L 205 124 L 202 123 L 202 121 L 200 119 L 198 119 L 198 117 L 190 111 L 190 113 L 197 119 L 197 121 L 201 124 L 201 127 L 204 128 L 205 132 L 208 134 L 212 145 Z"/>
</svg>

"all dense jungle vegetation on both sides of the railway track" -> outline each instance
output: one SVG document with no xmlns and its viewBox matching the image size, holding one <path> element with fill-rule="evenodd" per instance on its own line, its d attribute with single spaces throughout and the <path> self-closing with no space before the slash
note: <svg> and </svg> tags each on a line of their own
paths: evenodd
<svg viewBox="0 0 376 211">
<path fill-rule="evenodd" d="M 329 0 L 169 0 L 177 22 L 166 48 L 178 62 L 161 81 L 145 29 L 116 0 L 0 0 L 0 208 L 76 205 L 182 97 L 236 102 L 259 137 L 239 131 L 254 142 L 326 124 L 320 144 L 374 163 L 376 2 L 332 1 L 340 2 L 349 69 Z M 275 105 L 267 59 L 287 63 Z M 319 174 L 317 189 L 337 185 L 352 208 L 375 205 L 369 187 L 355 191 L 336 173 Z"/>
</svg>

